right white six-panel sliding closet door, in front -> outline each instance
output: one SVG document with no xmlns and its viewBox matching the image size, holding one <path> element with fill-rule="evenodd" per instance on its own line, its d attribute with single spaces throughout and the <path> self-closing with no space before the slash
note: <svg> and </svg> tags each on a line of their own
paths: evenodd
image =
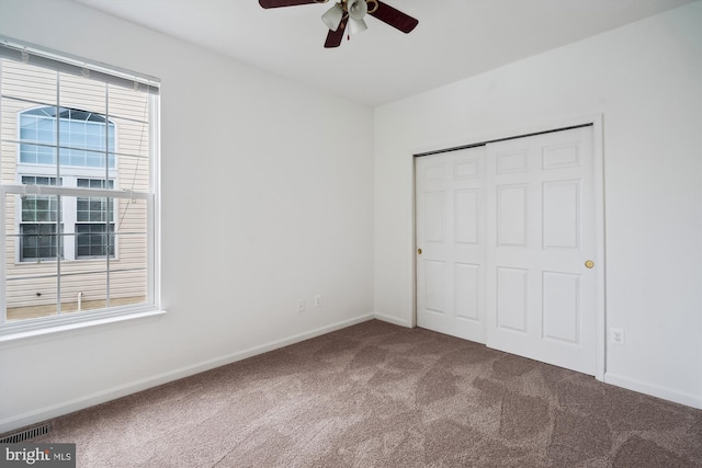
<svg viewBox="0 0 702 468">
<path fill-rule="evenodd" d="M 486 151 L 486 344 L 595 375 L 592 128 Z"/>
</svg>

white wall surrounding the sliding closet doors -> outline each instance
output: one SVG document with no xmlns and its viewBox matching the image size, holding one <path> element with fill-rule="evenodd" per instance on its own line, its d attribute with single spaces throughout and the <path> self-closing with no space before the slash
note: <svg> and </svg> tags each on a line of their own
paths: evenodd
<svg viewBox="0 0 702 468">
<path fill-rule="evenodd" d="M 376 313 L 412 322 L 412 153 L 597 113 L 604 379 L 702 408 L 702 2 L 376 109 Z"/>
</svg>

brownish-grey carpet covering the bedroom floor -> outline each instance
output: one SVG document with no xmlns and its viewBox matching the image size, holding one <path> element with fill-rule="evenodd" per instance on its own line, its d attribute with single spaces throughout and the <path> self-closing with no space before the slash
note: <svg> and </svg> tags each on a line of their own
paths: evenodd
<svg viewBox="0 0 702 468">
<path fill-rule="evenodd" d="M 81 467 L 702 467 L 702 411 L 370 321 L 54 421 Z"/>
</svg>

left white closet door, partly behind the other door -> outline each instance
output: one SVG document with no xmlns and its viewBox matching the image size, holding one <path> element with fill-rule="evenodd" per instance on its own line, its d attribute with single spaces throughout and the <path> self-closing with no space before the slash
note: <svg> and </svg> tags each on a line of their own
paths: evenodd
<svg viewBox="0 0 702 468">
<path fill-rule="evenodd" d="M 417 324 L 485 343 L 485 147 L 415 164 Z"/>
</svg>

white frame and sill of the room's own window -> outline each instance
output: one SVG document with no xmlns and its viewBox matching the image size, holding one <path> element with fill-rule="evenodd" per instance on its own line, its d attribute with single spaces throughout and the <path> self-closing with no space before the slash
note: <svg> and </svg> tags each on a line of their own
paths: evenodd
<svg viewBox="0 0 702 468">
<path fill-rule="evenodd" d="M 44 68 L 54 69 L 56 71 L 66 72 L 70 70 L 76 72 L 80 70 L 83 76 L 90 73 L 91 78 L 98 78 L 98 81 L 106 83 L 118 83 L 124 85 L 125 83 L 134 83 L 136 90 L 140 87 L 140 90 L 146 85 L 147 100 L 148 100 L 148 162 L 149 162 L 149 191 L 148 192 L 132 192 L 124 190 L 110 190 L 110 189 L 81 189 L 77 186 L 52 186 L 50 190 L 46 190 L 42 185 L 24 185 L 21 180 L 15 179 L 15 183 L 3 183 L 0 180 L 0 203 L 2 208 L 0 209 L 0 243 L 7 246 L 8 237 L 5 232 L 7 227 L 7 213 L 5 204 L 8 196 L 11 195 L 47 195 L 56 194 L 58 196 L 70 196 L 78 198 L 83 197 L 105 197 L 111 198 L 116 206 L 120 201 L 143 201 L 147 210 L 146 215 L 146 300 L 143 303 L 126 305 L 126 306 L 111 306 L 102 309 L 92 309 L 84 311 L 71 311 L 69 313 L 58 313 L 48 317 L 30 318 L 22 320 L 7 320 L 7 250 L 3 248 L 0 253 L 0 276 L 2 282 L 0 283 L 0 342 L 25 339 L 30 336 L 43 335 L 47 333 L 61 332 L 66 330 L 80 329 L 86 327 L 93 327 L 104 323 L 117 322 L 123 320 L 138 319 L 145 317 L 160 316 L 166 313 L 161 308 L 161 262 L 160 262 L 160 230 L 161 230 L 161 197 L 160 197 L 160 99 L 158 95 L 158 89 L 160 87 L 160 80 L 154 77 L 148 77 L 140 73 L 135 73 L 128 70 L 120 69 L 116 67 L 105 66 L 104 64 L 86 60 L 80 57 L 70 56 L 44 47 L 39 47 L 33 44 L 19 42 L 16 39 L 9 38 L 0 35 L 0 58 L 15 59 L 21 55 L 22 60 L 25 61 L 25 57 L 30 57 L 35 62 L 44 64 Z M 50 66 L 46 66 L 50 64 Z M 36 64 L 35 64 L 36 65 Z M 88 71 L 86 71 L 88 70 Z M 58 116 L 57 118 L 60 118 Z M 106 118 L 110 118 L 109 116 Z M 18 116 L 19 125 L 19 116 Z M 19 132 L 19 128 L 18 128 Z M 117 141 L 117 135 L 115 134 L 115 145 Z M 19 140 L 18 140 L 19 141 Z M 57 149 L 58 150 L 58 149 Z M 115 158 L 117 150 L 114 151 Z M 116 162 L 116 161 L 115 161 Z M 20 167 L 26 168 L 31 165 L 38 165 L 32 163 L 20 162 L 20 148 L 18 145 L 16 150 L 16 168 L 15 178 L 21 175 L 27 176 L 46 176 L 44 173 L 37 173 L 39 171 L 20 171 Z M 88 167 L 78 169 L 89 169 Z M 116 171 L 116 163 L 114 168 L 109 168 L 110 171 Z M 76 171 L 71 171 L 76 172 Z M 77 171 L 78 173 L 82 171 Z M 76 179 L 91 179 L 92 174 L 78 174 L 71 173 L 71 176 Z M 112 176 L 110 176 L 112 179 Z M 20 208 L 21 209 L 21 204 Z M 113 217 L 116 214 L 113 210 Z M 112 221 L 116 222 L 116 218 Z M 78 224 L 78 222 L 77 222 Z M 117 247 L 115 246 L 114 255 L 116 256 Z M 78 258 L 71 262 L 90 261 L 90 258 Z"/>
</svg>

